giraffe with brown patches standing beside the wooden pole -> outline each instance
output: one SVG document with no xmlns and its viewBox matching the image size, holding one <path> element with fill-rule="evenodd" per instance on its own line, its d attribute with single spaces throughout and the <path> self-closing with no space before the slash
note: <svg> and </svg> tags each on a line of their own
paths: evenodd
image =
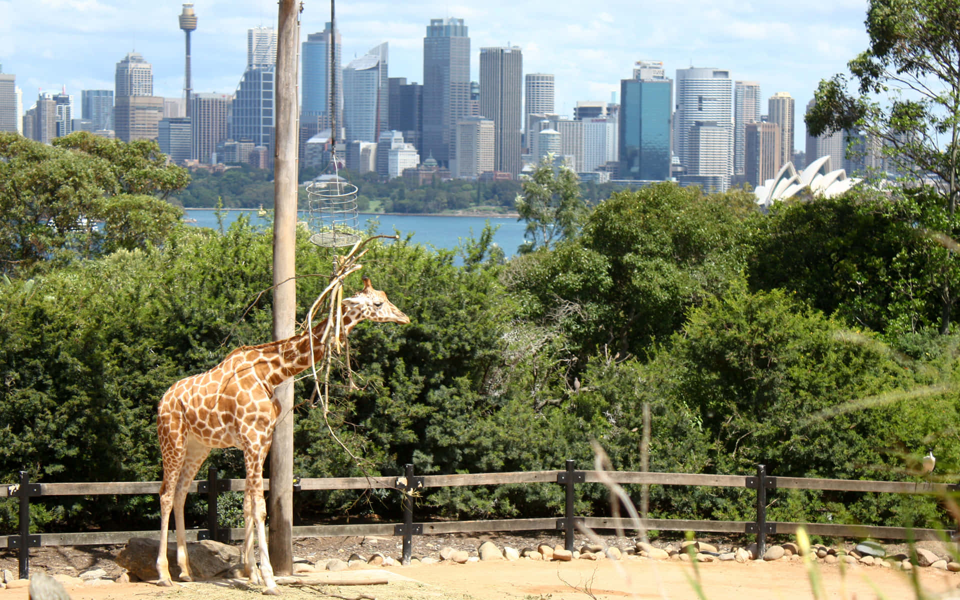
<svg viewBox="0 0 960 600">
<path fill-rule="evenodd" d="M 361 292 L 342 300 L 342 339 L 363 320 L 408 324 L 410 319 L 373 289 L 364 277 Z M 156 410 L 156 433 L 163 457 L 160 485 L 160 549 L 156 571 L 160 586 L 172 586 L 167 564 L 167 531 L 170 511 L 177 521 L 177 564 L 180 580 L 192 581 L 186 555 L 183 502 L 190 483 L 211 448 L 237 447 L 243 450 L 247 471 L 243 514 L 246 532 L 242 556 L 244 572 L 252 584 L 259 584 L 253 560 L 253 530 L 260 546 L 260 575 L 263 593 L 278 593 L 265 536 L 266 503 L 263 499 L 263 461 L 270 450 L 279 406 L 274 389 L 310 367 L 312 357 L 324 355 L 320 336 L 324 319 L 312 331 L 285 340 L 236 348 L 219 365 L 180 379 L 170 386 Z"/>
</svg>

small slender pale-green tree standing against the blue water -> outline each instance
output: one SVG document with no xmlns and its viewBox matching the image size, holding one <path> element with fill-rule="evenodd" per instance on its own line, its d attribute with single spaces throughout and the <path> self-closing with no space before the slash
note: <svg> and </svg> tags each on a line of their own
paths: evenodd
<svg viewBox="0 0 960 600">
<path fill-rule="evenodd" d="M 516 196 L 516 212 L 527 222 L 520 252 L 549 249 L 551 244 L 572 239 L 586 214 L 577 174 L 561 167 L 555 170 L 544 158 Z"/>
</svg>

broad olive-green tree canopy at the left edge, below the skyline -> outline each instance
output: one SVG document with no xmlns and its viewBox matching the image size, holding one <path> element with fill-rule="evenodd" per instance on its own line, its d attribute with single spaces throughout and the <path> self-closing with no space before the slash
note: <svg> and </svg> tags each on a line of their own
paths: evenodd
<svg viewBox="0 0 960 600">
<path fill-rule="evenodd" d="M 162 198 L 186 181 L 185 171 L 164 163 L 155 142 L 124 144 L 78 132 L 45 146 L 0 133 L 3 271 L 159 243 L 180 220 L 180 210 Z"/>
</svg>

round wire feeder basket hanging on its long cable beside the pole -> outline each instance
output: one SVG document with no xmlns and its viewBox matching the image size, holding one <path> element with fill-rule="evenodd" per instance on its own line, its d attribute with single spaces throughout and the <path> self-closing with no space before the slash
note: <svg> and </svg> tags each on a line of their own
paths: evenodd
<svg viewBox="0 0 960 600">
<path fill-rule="evenodd" d="M 335 0 L 330 0 L 330 40 L 327 44 L 330 61 L 330 161 L 326 174 L 306 186 L 307 218 L 310 241 L 323 248 L 353 246 L 360 241 L 361 231 L 357 217 L 357 186 L 340 177 L 340 158 L 337 156 L 337 77 L 336 46 L 337 21 Z"/>
</svg>

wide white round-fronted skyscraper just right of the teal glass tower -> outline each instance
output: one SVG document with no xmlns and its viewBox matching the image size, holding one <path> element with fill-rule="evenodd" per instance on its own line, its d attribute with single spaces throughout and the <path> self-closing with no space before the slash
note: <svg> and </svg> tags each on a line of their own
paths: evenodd
<svg viewBox="0 0 960 600">
<path fill-rule="evenodd" d="M 701 175 L 694 170 L 693 150 L 687 144 L 690 130 L 697 121 L 713 122 L 726 132 L 728 179 L 733 173 L 733 114 L 730 71 L 714 68 L 677 69 L 677 110 L 673 117 L 674 154 L 686 168 L 687 175 Z M 709 132 L 712 136 L 715 132 Z M 712 174 L 711 174 L 712 175 Z"/>
</svg>

